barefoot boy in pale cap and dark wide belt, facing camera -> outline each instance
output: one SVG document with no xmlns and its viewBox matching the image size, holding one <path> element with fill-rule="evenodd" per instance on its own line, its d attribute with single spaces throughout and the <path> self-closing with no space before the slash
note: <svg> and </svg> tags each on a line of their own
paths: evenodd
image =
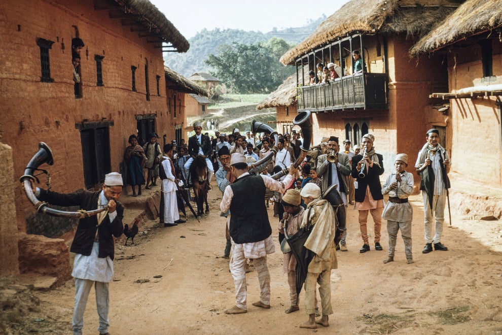
<svg viewBox="0 0 502 335">
<path fill-rule="evenodd" d="M 396 172 L 390 174 L 382 186 L 382 194 L 388 194 L 389 199 L 383 209 L 382 219 L 387 220 L 387 232 L 389 235 L 388 256 L 383 261 L 388 263 L 394 260 L 396 238 L 401 229 L 401 236 L 405 244 L 405 254 L 408 264 L 413 263 L 411 252 L 411 220 L 413 208 L 408 203 L 408 196 L 413 192 L 413 175 L 406 172 L 408 155 L 398 154 L 394 159 Z"/>
</svg>

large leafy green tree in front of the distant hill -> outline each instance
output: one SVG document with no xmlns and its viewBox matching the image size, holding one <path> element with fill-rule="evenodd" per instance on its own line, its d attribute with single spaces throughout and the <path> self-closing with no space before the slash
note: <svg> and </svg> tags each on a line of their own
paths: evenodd
<svg viewBox="0 0 502 335">
<path fill-rule="evenodd" d="M 221 46 L 218 56 L 210 54 L 205 63 L 216 69 L 212 75 L 236 93 L 269 93 L 295 72 L 279 62 L 290 48 L 278 38 L 258 44 L 233 43 Z"/>
</svg>

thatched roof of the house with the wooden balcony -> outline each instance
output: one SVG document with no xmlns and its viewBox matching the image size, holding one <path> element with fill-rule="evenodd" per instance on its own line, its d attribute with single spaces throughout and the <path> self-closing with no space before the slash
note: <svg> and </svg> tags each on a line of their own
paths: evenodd
<svg viewBox="0 0 502 335">
<path fill-rule="evenodd" d="M 319 24 L 315 31 L 280 58 L 283 64 L 351 32 L 406 33 L 420 38 L 464 0 L 352 0 Z"/>
</svg>

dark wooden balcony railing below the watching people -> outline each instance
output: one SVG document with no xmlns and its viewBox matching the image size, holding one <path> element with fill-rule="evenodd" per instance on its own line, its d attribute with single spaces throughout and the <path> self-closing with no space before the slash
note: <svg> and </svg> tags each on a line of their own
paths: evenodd
<svg viewBox="0 0 502 335">
<path fill-rule="evenodd" d="M 298 87 L 298 110 L 387 109 L 387 82 L 384 73 L 365 73 Z"/>
</svg>

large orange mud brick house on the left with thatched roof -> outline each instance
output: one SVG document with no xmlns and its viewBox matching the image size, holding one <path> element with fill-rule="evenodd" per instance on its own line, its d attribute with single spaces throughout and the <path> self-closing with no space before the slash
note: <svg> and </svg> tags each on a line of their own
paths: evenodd
<svg viewBox="0 0 502 335">
<path fill-rule="evenodd" d="M 34 215 L 18 182 L 39 142 L 54 155 L 41 167 L 53 190 L 98 188 L 121 171 L 131 134 L 174 138 L 163 53 L 190 45 L 147 0 L 5 0 L 0 35 L 0 136 L 12 150 L 2 169 L 14 171 L 17 230 L 60 236 L 71 225 Z"/>
</svg>

